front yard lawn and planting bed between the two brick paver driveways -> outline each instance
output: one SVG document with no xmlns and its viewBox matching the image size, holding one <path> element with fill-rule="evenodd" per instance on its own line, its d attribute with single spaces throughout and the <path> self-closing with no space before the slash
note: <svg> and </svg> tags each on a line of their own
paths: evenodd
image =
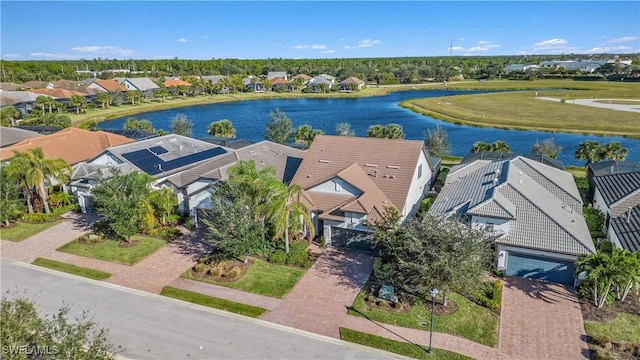
<svg viewBox="0 0 640 360">
<path fill-rule="evenodd" d="M 367 283 L 356 297 L 350 315 L 362 316 L 387 324 L 427 330 L 431 321 L 431 301 L 416 299 L 398 292 L 398 304 L 376 299 L 378 286 Z M 372 296 L 373 295 L 373 296 Z M 436 299 L 434 330 L 457 335 L 484 345 L 498 344 L 499 316 L 495 310 L 477 305 L 467 298 L 450 293 L 447 306 Z"/>
</svg>

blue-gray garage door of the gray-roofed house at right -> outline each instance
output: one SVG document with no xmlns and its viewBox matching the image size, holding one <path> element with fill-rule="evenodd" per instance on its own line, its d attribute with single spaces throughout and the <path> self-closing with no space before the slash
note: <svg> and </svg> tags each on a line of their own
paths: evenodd
<svg viewBox="0 0 640 360">
<path fill-rule="evenodd" d="M 509 252 L 507 275 L 573 285 L 573 262 Z"/>
</svg>

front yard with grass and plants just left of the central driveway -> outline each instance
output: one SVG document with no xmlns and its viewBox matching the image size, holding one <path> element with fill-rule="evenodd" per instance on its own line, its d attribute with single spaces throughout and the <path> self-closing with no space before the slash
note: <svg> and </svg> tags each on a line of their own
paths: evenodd
<svg viewBox="0 0 640 360">
<path fill-rule="evenodd" d="M 239 260 L 201 260 L 182 277 L 209 284 L 225 286 L 255 294 L 283 298 L 304 275 L 304 270 L 249 258 Z"/>
</svg>

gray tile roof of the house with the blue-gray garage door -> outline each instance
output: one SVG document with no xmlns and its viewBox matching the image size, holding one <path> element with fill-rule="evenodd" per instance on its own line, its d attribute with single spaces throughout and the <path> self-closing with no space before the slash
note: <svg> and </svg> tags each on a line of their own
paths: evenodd
<svg viewBox="0 0 640 360">
<path fill-rule="evenodd" d="M 572 255 L 595 251 L 572 175 L 526 157 L 452 167 L 429 214 L 508 219 L 500 244 Z"/>
</svg>

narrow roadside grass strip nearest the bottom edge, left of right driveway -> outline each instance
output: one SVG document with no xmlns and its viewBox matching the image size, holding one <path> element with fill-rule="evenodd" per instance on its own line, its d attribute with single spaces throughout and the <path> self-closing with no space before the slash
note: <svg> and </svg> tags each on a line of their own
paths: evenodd
<svg viewBox="0 0 640 360">
<path fill-rule="evenodd" d="M 414 359 L 447 359 L 464 360 L 470 357 L 454 353 L 447 350 L 433 349 L 433 354 L 428 354 L 427 349 L 417 344 L 410 344 L 401 341 L 391 340 L 376 335 L 340 328 L 340 339 L 356 344 L 370 346 L 376 349 L 389 351 L 392 353 L 408 356 Z"/>
</svg>

